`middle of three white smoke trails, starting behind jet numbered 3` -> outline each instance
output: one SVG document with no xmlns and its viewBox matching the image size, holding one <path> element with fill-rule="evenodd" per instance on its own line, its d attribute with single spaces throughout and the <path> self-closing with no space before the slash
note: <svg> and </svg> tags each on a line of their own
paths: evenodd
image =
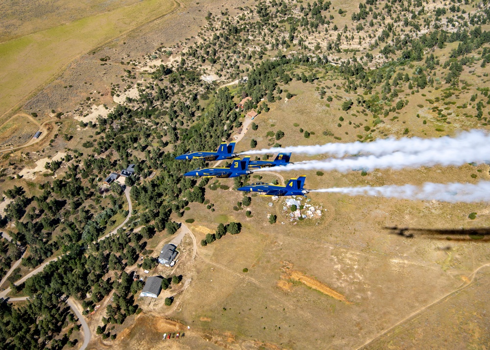
<svg viewBox="0 0 490 350">
<path fill-rule="evenodd" d="M 311 160 L 288 164 L 282 167 L 274 167 L 274 171 L 337 170 L 339 172 L 348 172 L 358 169 L 403 169 L 434 165 L 460 166 L 465 163 L 484 163 L 488 160 L 490 160 L 489 147 L 488 145 L 482 145 L 473 149 L 449 148 L 443 150 L 427 150 L 416 154 L 394 152 L 379 157 L 369 155 L 346 159 Z M 267 168 L 256 169 L 255 172 L 267 170 Z"/>
</svg>

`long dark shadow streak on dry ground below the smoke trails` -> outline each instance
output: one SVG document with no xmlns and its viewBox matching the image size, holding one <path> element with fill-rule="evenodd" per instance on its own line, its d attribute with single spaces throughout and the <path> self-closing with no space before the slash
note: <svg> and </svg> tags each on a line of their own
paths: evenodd
<svg viewBox="0 0 490 350">
<path fill-rule="evenodd" d="M 490 227 L 483 228 L 415 228 L 385 226 L 391 234 L 405 238 L 425 238 L 456 242 L 490 242 Z"/>
</svg>

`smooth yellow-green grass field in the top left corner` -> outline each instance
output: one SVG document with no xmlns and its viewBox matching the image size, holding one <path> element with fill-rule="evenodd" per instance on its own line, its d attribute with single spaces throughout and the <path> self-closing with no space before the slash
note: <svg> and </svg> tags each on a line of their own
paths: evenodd
<svg viewBox="0 0 490 350">
<path fill-rule="evenodd" d="M 0 115 L 25 100 L 75 57 L 178 6 L 145 0 L 0 44 Z"/>
</svg>

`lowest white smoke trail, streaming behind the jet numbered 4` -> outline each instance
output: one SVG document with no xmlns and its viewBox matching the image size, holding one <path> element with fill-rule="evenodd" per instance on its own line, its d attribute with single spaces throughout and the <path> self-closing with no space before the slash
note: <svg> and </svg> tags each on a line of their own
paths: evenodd
<svg viewBox="0 0 490 350">
<path fill-rule="evenodd" d="M 423 186 L 381 186 L 381 187 L 344 187 L 310 190 L 310 192 L 343 193 L 349 196 L 381 196 L 406 200 L 439 200 L 444 202 L 480 202 L 490 201 L 490 181 L 470 183 L 431 183 Z"/>
</svg>

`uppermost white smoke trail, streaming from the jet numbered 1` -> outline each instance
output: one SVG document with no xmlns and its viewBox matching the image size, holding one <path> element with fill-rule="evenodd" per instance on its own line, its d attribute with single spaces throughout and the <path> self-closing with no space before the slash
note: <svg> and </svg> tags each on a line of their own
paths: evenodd
<svg viewBox="0 0 490 350">
<path fill-rule="evenodd" d="M 444 150 L 448 148 L 466 148 L 467 150 L 471 150 L 482 145 L 490 145 L 490 135 L 484 130 L 474 129 L 462 132 L 456 137 L 444 136 L 432 139 L 404 137 L 399 140 L 388 138 L 366 143 L 357 141 L 352 143 L 328 143 L 315 146 L 274 147 L 262 150 L 249 150 L 240 154 L 293 152 L 308 155 L 332 154 L 337 157 L 342 157 L 346 154 L 370 153 L 379 156 L 397 151 L 418 153 L 427 150 Z"/>
</svg>

